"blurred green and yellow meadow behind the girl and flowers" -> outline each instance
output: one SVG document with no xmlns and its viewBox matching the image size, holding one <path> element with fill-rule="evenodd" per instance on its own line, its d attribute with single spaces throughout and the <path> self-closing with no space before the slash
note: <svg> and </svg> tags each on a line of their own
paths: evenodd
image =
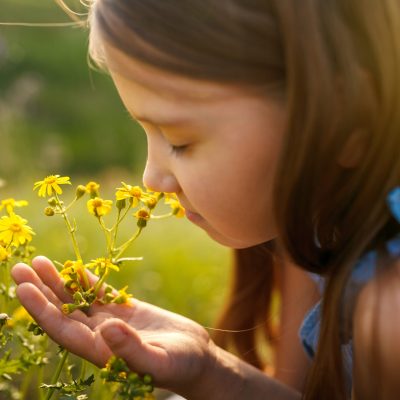
<svg viewBox="0 0 400 400">
<path fill-rule="evenodd" d="M 77 2 L 76 2 L 77 3 Z M 74 4 L 73 2 L 71 4 Z M 1 0 L 1 22 L 70 20 L 53 0 Z M 112 198 L 124 180 L 141 182 L 145 137 L 124 110 L 108 76 L 89 68 L 87 32 L 76 27 L 0 25 L 0 199 L 29 201 L 20 214 L 37 235 L 38 253 L 73 257 L 63 221 L 46 218 L 46 202 L 33 182 L 68 175 L 74 185 L 95 180 Z M 74 191 L 67 188 L 66 197 Z M 100 257 L 104 240 L 85 201 L 72 216 L 87 260 Z M 134 221 L 132 221 L 134 226 Z M 125 228 L 125 235 L 129 229 Z M 230 252 L 185 219 L 152 221 L 126 265 L 112 277 L 134 296 L 211 325 L 226 293 Z"/>
</svg>

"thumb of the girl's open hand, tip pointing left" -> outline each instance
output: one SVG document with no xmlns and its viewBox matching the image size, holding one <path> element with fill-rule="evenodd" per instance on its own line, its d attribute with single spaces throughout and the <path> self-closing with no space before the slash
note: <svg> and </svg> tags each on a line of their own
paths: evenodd
<svg viewBox="0 0 400 400">
<path fill-rule="evenodd" d="M 131 370 L 154 377 L 164 375 L 168 355 L 163 348 L 142 341 L 133 328 L 116 318 L 102 323 L 99 330 L 111 351 L 123 358 Z"/>
</svg>

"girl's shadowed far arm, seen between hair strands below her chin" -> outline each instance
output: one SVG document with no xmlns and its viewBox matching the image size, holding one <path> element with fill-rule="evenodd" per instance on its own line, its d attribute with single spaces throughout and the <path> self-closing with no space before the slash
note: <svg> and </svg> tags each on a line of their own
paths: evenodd
<svg viewBox="0 0 400 400">
<path fill-rule="evenodd" d="M 321 295 L 310 275 L 290 261 L 283 260 L 280 272 L 281 327 L 274 376 L 286 385 L 302 391 L 311 361 L 300 343 L 299 329 L 305 314 Z"/>
</svg>

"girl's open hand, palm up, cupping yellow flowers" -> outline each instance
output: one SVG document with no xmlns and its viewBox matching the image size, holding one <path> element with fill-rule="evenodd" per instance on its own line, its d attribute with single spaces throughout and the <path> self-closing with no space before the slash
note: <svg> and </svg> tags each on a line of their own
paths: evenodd
<svg viewBox="0 0 400 400">
<path fill-rule="evenodd" d="M 151 374 L 157 386 L 187 393 L 215 364 L 209 335 L 187 318 L 136 299 L 94 304 L 88 315 L 75 311 L 66 316 L 61 305 L 72 299 L 50 260 L 36 257 L 32 268 L 17 264 L 12 276 L 22 305 L 47 334 L 99 367 L 114 353 L 133 371 Z"/>
</svg>

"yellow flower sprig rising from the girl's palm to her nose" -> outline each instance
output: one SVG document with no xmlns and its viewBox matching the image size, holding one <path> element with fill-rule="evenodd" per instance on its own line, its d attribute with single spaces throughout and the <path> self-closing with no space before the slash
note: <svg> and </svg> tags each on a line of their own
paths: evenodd
<svg viewBox="0 0 400 400">
<path fill-rule="evenodd" d="M 65 205 L 60 197 L 63 193 L 61 185 L 71 185 L 70 178 L 67 176 L 50 175 L 42 181 L 35 182 L 33 189 L 38 189 L 40 197 L 48 197 L 48 205 L 44 210 L 45 215 L 53 216 L 59 214 L 63 217 L 75 250 L 76 260 L 64 262 L 60 271 L 60 275 L 65 282 L 64 286 L 73 298 L 73 303 L 64 304 L 62 311 L 65 314 L 69 314 L 77 309 L 85 312 L 95 301 L 102 304 L 126 303 L 131 305 L 129 301 L 131 295 L 126 293 L 126 287 L 119 291 L 111 287 L 101 290 L 105 279 L 110 271 L 119 271 L 120 265 L 123 262 L 138 259 L 132 257 L 123 258 L 122 256 L 147 226 L 148 221 L 173 215 L 182 217 L 184 215 L 183 207 L 174 194 L 152 192 L 125 182 L 121 182 L 122 186 L 116 188 L 114 202 L 113 200 L 103 198 L 100 194 L 100 184 L 93 181 L 85 185 L 79 184 L 75 189 L 74 199 L 70 204 Z M 104 233 L 107 245 L 107 249 L 102 257 L 91 260 L 88 263 L 83 262 L 75 237 L 77 228 L 71 224 L 67 215 L 71 207 L 85 195 L 89 197 L 86 202 L 87 210 L 97 219 L 100 229 Z M 170 208 L 170 211 L 166 214 L 154 215 L 153 212 L 162 199 L 164 199 L 164 204 Z M 116 217 L 113 224 L 107 226 L 104 217 L 112 212 L 114 204 Z M 136 221 L 136 232 L 128 240 L 117 244 L 118 229 L 122 221 L 127 219 L 130 213 Z M 89 281 L 86 272 L 87 269 L 93 270 L 97 276 L 93 284 Z"/>
</svg>

